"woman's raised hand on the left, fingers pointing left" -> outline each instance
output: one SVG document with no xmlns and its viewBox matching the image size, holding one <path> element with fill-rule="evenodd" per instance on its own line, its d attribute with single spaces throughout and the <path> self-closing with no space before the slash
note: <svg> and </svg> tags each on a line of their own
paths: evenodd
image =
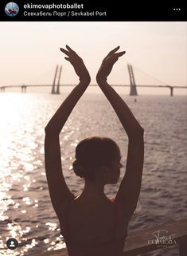
<svg viewBox="0 0 187 256">
<path fill-rule="evenodd" d="M 68 45 L 65 45 L 65 47 L 66 49 L 60 48 L 60 51 L 68 56 L 64 58 L 72 64 L 77 76 L 80 77 L 80 81 L 89 85 L 91 78 L 86 66 L 84 65 L 84 61 Z"/>
</svg>

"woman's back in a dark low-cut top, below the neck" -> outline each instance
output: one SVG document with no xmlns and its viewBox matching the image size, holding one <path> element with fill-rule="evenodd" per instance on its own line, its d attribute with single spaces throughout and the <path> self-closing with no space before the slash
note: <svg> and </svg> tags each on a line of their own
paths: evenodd
<svg viewBox="0 0 187 256">
<path fill-rule="evenodd" d="M 128 220 L 120 207 L 109 199 L 78 197 L 59 216 L 69 256 L 119 256 L 127 237 Z"/>
</svg>

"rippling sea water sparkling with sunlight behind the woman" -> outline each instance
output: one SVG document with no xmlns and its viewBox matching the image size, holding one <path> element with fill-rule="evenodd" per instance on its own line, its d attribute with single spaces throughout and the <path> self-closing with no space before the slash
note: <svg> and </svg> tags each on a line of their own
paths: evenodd
<svg viewBox="0 0 187 256">
<path fill-rule="evenodd" d="M 31 255 L 65 247 L 49 198 L 44 165 L 45 126 L 65 96 L 0 94 L 0 255 Z M 136 96 L 136 102 L 134 96 L 121 96 L 145 129 L 142 189 L 129 230 L 185 218 L 186 96 Z M 84 180 L 71 170 L 72 161 L 76 144 L 88 136 L 115 140 L 125 166 L 127 134 L 103 95 L 82 96 L 60 133 L 64 177 L 75 195 L 81 193 Z M 125 167 L 119 183 L 124 172 Z M 105 187 L 108 197 L 115 196 L 119 183 Z M 19 242 L 16 250 L 6 248 L 11 237 Z M 172 249 L 149 255 L 177 254 L 178 250 Z"/>
</svg>

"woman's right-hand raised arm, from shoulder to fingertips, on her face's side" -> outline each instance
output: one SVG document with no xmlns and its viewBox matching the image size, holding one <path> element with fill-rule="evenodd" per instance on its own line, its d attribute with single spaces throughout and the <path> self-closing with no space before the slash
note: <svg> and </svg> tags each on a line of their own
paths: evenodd
<svg viewBox="0 0 187 256">
<path fill-rule="evenodd" d="M 144 130 L 138 123 L 138 120 L 135 119 L 131 109 L 128 108 L 119 94 L 107 83 L 107 76 L 111 73 L 113 65 L 125 53 L 116 53 L 118 49 L 119 46 L 111 50 L 107 57 L 103 59 L 96 76 L 96 81 L 114 108 L 129 139 L 126 172 L 119 186 L 115 201 L 123 206 L 125 213 L 131 218 L 138 202 L 142 182 Z"/>
</svg>

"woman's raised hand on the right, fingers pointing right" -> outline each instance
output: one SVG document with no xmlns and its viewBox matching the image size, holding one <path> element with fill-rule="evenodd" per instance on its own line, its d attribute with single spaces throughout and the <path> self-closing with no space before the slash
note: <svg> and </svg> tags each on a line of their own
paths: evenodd
<svg viewBox="0 0 187 256">
<path fill-rule="evenodd" d="M 111 73 L 111 69 L 116 61 L 118 61 L 119 57 L 123 56 L 126 52 L 116 53 L 119 49 L 119 46 L 115 49 L 112 49 L 110 53 L 103 59 L 102 64 L 100 65 L 99 71 L 96 75 L 96 81 L 98 84 L 103 81 L 107 81 L 108 75 Z"/>
</svg>

